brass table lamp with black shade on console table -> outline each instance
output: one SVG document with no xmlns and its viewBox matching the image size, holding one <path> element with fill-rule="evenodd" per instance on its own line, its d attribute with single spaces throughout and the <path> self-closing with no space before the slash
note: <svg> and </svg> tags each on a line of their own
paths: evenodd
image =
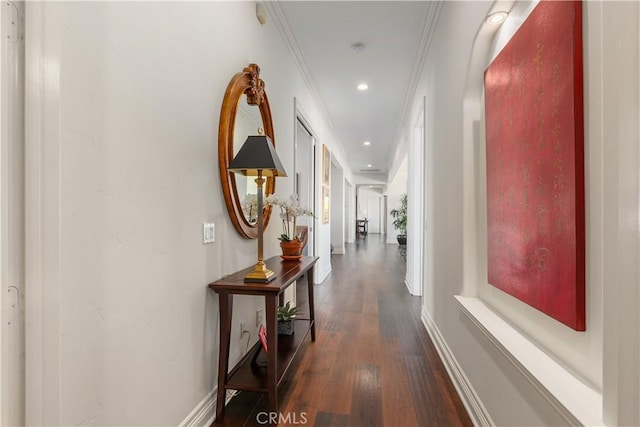
<svg viewBox="0 0 640 427">
<path fill-rule="evenodd" d="M 230 171 L 245 176 L 255 176 L 258 187 L 258 262 L 253 271 L 245 278 L 245 282 L 268 283 L 276 278 L 273 271 L 264 264 L 262 249 L 263 218 L 262 218 L 262 185 L 264 176 L 287 176 L 282 162 L 276 154 L 271 139 L 266 135 L 251 135 L 233 158 L 228 168 Z"/>
</svg>

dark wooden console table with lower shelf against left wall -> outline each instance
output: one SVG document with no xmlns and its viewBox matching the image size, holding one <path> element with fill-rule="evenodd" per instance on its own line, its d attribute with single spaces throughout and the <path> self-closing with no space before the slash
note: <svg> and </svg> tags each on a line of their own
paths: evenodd
<svg viewBox="0 0 640 427">
<path fill-rule="evenodd" d="M 302 257 L 300 261 L 283 261 L 279 256 L 265 260 L 267 268 L 276 274 L 270 283 L 244 283 L 253 266 L 209 284 L 220 297 L 220 357 L 218 362 L 218 396 L 216 422 L 224 419 L 226 390 L 245 390 L 269 394 L 269 411 L 278 410 L 278 384 L 289 368 L 298 348 L 311 331 L 311 341 L 316 340 L 315 310 L 313 306 L 313 267 L 318 257 Z M 295 332 L 291 336 L 278 336 L 277 309 L 284 302 L 284 290 L 307 274 L 309 291 L 309 318 L 295 320 Z M 231 318 L 234 295 L 260 295 L 265 299 L 267 329 L 267 366 L 259 366 L 256 357 L 261 344 L 258 341 L 229 371 L 229 344 L 231 343 Z M 273 349 L 273 350 L 272 350 Z"/>
</svg>

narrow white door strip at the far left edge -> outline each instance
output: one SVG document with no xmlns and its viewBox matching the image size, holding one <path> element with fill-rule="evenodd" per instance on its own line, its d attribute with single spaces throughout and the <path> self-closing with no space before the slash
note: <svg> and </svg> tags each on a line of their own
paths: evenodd
<svg viewBox="0 0 640 427">
<path fill-rule="evenodd" d="M 0 425 L 24 425 L 24 3 L 0 4 Z"/>
</svg>

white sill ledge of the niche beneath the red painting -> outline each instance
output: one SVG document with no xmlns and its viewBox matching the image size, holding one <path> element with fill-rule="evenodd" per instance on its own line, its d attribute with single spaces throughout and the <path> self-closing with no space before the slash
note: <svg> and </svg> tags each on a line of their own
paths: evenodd
<svg viewBox="0 0 640 427">
<path fill-rule="evenodd" d="M 602 393 L 581 382 L 478 298 L 455 296 L 477 326 L 568 425 L 604 425 Z"/>
</svg>

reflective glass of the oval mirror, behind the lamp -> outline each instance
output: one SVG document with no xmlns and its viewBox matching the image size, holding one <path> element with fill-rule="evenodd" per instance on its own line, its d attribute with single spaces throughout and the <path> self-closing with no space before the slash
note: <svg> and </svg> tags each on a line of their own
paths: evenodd
<svg viewBox="0 0 640 427">
<path fill-rule="evenodd" d="M 262 118 L 258 107 L 247 103 L 246 95 L 240 97 L 238 101 L 238 113 L 236 114 L 236 124 L 233 131 L 233 155 L 240 151 L 244 141 L 249 135 L 258 135 L 261 130 Z M 258 221 L 258 198 L 256 196 L 258 188 L 253 177 L 234 174 L 236 180 L 236 190 L 242 205 L 242 213 L 249 224 Z"/>
</svg>

